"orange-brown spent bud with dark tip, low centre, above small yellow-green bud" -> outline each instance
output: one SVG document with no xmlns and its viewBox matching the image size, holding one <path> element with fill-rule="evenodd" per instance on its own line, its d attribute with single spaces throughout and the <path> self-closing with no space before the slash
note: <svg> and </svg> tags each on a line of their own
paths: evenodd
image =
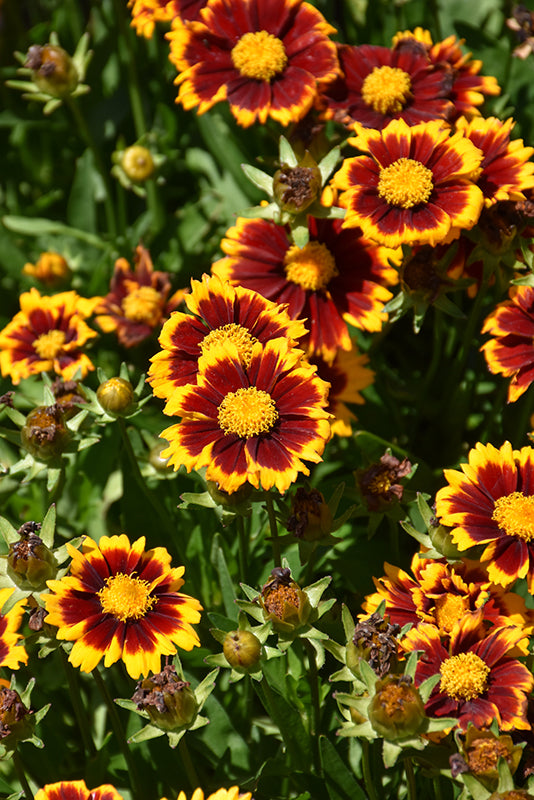
<svg viewBox="0 0 534 800">
<path fill-rule="evenodd" d="M 307 594 L 286 567 L 273 569 L 271 580 L 261 590 L 260 604 L 273 628 L 286 632 L 305 625 L 311 611 Z"/>
</svg>

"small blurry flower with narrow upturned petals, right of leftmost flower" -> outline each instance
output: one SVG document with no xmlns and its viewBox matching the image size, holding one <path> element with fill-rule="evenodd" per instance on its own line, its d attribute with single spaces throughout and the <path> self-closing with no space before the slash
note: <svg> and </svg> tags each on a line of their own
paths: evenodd
<svg viewBox="0 0 534 800">
<path fill-rule="evenodd" d="M 115 262 L 110 292 L 95 308 L 96 322 L 105 333 L 115 331 L 124 347 L 134 347 L 159 329 L 185 292 L 171 297 L 171 281 L 166 272 L 154 271 L 150 253 L 138 245 L 134 268 L 125 258 Z"/>
</svg>

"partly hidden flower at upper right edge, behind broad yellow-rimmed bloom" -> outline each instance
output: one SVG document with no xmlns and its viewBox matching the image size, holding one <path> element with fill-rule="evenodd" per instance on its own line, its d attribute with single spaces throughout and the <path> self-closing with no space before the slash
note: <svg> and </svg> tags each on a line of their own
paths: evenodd
<svg viewBox="0 0 534 800">
<path fill-rule="evenodd" d="M 534 147 L 524 147 L 522 139 L 510 141 L 513 119 L 505 122 L 496 117 L 465 117 L 456 123 L 457 130 L 484 153 L 477 186 L 484 193 L 486 206 L 498 200 L 525 200 L 523 189 L 534 186 L 534 163 L 528 159 Z"/>
</svg>

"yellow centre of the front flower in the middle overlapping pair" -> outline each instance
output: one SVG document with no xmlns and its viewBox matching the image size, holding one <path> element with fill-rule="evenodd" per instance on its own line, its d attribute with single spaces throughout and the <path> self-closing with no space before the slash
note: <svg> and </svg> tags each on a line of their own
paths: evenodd
<svg viewBox="0 0 534 800">
<path fill-rule="evenodd" d="M 225 434 L 234 433 L 247 439 L 268 433 L 278 419 L 278 411 L 268 392 L 249 386 L 226 395 L 217 419 Z"/>
</svg>

